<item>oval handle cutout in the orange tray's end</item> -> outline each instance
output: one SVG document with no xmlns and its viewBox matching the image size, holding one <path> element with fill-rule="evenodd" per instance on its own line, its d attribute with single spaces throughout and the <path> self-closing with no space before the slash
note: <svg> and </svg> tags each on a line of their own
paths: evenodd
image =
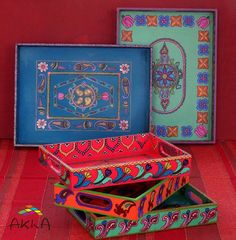
<svg viewBox="0 0 236 240">
<path fill-rule="evenodd" d="M 88 193 L 79 192 L 76 195 L 76 202 L 80 206 L 109 211 L 112 208 L 112 202 L 109 198 L 94 196 Z"/>
</svg>

